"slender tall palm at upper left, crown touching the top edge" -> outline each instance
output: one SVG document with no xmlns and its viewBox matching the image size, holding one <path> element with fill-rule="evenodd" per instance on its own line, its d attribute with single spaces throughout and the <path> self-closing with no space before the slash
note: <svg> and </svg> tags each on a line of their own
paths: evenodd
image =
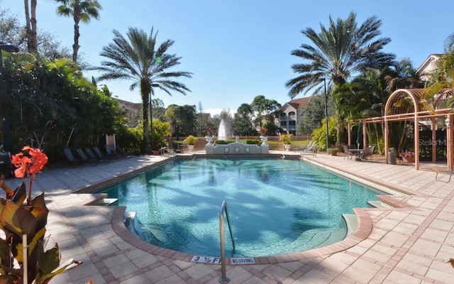
<svg viewBox="0 0 454 284">
<path fill-rule="evenodd" d="M 74 19 L 74 44 L 72 45 L 72 60 L 77 62 L 79 51 L 79 22 L 89 23 L 92 18 L 99 18 L 101 4 L 96 0 L 55 0 L 62 5 L 58 6 L 57 14 Z"/>
</svg>

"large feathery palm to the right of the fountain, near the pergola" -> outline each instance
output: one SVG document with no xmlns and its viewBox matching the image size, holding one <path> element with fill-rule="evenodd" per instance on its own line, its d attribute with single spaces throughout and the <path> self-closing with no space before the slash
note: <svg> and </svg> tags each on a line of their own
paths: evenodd
<svg viewBox="0 0 454 284">
<path fill-rule="evenodd" d="M 334 89 L 360 72 L 378 69 L 386 62 L 392 62 L 394 54 L 383 53 L 381 50 L 391 40 L 377 38 L 380 35 L 382 21 L 375 16 L 367 18 L 358 26 L 356 13 L 351 12 L 348 18 L 338 18 L 333 21 L 329 17 L 329 28 L 322 24 L 321 32 L 316 33 L 313 28 L 301 31 L 313 45 L 303 43 L 301 48 L 293 50 L 292 55 L 306 61 L 292 65 L 298 77 L 289 80 L 289 97 L 292 99 L 301 92 L 321 91 L 323 78 Z M 343 117 L 338 115 L 338 142 L 343 136 Z"/>
</svg>

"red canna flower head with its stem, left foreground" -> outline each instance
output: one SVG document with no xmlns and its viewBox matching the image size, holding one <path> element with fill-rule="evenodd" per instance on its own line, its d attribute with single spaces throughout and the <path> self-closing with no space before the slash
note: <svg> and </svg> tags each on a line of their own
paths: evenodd
<svg viewBox="0 0 454 284">
<path fill-rule="evenodd" d="M 16 178 L 30 177 L 27 204 L 31 206 L 31 188 L 35 181 L 35 175 L 43 170 L 44 165 L 48 163 L 48 156 L 41 149 L 25 146 L 21 153 L 11 155 L 11 163 L 16 167 L 16 170 L 14 170 Z"/>
</svg>

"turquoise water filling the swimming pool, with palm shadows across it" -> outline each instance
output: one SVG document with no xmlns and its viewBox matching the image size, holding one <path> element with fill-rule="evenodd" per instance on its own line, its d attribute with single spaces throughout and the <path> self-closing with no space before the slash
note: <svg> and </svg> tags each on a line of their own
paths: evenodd
<svg viewBox="0 0 454 284">
<path fill-rule="evenodd" d="M 228 204 L 226 256 L 305 251 L 345 237 L 342 214 L 380 194 L 301 160 L 174 160 L 104 190 L 137 213 L 136 233 L 150 244 L 220 256 L 219 212 Z"/>
</svg>

